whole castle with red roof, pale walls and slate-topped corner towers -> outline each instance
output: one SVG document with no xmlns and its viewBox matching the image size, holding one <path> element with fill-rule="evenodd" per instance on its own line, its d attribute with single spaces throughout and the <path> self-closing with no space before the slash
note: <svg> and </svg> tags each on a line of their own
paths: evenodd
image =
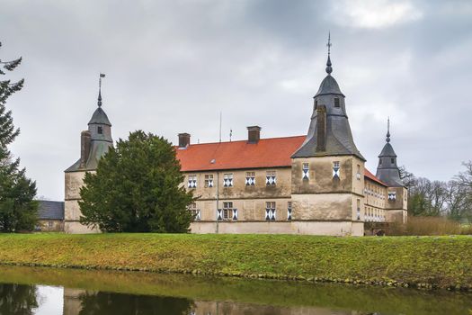
<svg viewBox="0 0 472 315">
<path fill-rule="evenodd" d="M 261 128 L 251 126 L 245 140 L 191 144 L 189 133 L 179 134 L 183 184 L 198 196 L 189 207 L 192 233 L 362 236 L 367 226 L 405 222 L 407 192 L 389 130 L 373 175 L 352 138 L 329 50 L 325 71 L 306 136 L 262 139 Z M 97 232 L 80 224 L 77 202 L 85 172 L 111 146 L 99 90 L 98 108 L 81 134 L 81 157 L 65 171 L 66 232 Z"/>
</svg>

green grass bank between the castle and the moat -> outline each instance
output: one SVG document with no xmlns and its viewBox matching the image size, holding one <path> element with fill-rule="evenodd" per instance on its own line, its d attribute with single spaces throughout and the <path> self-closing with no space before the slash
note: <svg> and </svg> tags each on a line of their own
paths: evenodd
<svg viewBox="0 0 472 315">
<path fill-rule="evenodd" d="M 472 237 L 0 234 L 0 264 L 472 290 Z"/>
</svg>

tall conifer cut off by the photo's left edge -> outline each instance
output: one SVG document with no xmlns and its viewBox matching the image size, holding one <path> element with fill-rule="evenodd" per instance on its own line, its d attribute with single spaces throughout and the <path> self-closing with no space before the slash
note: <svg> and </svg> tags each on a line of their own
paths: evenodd
<svg viewBox="0 0 472 315">
<path fill-rule="evenodd" d="M 1 43 L 0 43 L 1 47 Z M 0 76 L 13 71 L 22 58 L 12 61 L 0 60 Z M 6 100 L 22 89 L 24 80 L 12 83 L 0 80 L 0 231 L 31 230 L 37 221 L 38 204 L 33 201 L 36 184 L 20 169 L 20 159 L 13 159 L 8 145 L 20 133 L 13 125 L 12 112 L 6 109 Z"/>
</svg>

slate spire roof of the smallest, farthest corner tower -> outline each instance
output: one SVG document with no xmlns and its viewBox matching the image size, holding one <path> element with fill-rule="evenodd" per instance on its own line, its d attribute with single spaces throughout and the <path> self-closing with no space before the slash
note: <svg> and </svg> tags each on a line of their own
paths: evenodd
<svg viewBox="0 0 472 315">
<path fill-rule="evenodd" d="M 390 119 L 387 121 L 387 139 L 384 148 L 378 155 L 377 178 L 389 187 L 403 187 L 400 170 L 396 166 L 396 153 L 390 144 Z"/>
</svg>

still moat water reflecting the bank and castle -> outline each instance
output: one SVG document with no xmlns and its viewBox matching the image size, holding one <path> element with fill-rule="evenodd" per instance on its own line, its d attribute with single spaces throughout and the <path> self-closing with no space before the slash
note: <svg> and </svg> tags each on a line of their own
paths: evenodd
<svg viewBox="0 0 472 315">
<path fill-rule="evenodd" d="M 0 266 L 0 314 L 471 314 L 472 294 Z"/>
</svg>

